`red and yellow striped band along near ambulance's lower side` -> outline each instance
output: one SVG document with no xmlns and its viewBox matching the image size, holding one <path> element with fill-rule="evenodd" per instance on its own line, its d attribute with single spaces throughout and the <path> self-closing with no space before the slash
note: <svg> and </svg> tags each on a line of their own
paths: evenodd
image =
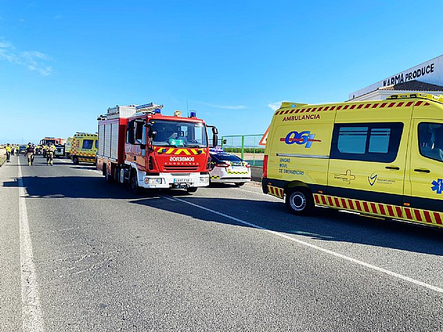
<svg viewBox="0 0 443 332">
<path fill-rule="evenodd" d="M 278 195 L 273 194 L 273 196 Z M 328 196 L 323 194 L 314 194 L 314 201 L 316 205 L 325 205 L 331 208 L 375 214 L 378 216 L 388 216 L 395 219 L 404 219 L 408 221 L 415 221 L 418 223 L 426 223 L 429 225 L 443 227 L 443 212 L 420 210 L 406 207 L 401 208 L 397 205 L 359 201 L 356 199 L 343 199 L 341 197 Z"/>
</svg>

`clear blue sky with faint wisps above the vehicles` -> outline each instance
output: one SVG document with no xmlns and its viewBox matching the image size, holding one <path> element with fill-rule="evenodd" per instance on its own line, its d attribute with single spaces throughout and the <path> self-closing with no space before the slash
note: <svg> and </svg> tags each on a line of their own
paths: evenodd
<svg viewBox="0 0 443 332">
<path fill-rule="evenodd" d="M 221 135 L 337 102 L 443 53 L 443 1 L 0 0 L 0 142 L 96 132 L 116 104 L 197 111 Z"/>
</svg>

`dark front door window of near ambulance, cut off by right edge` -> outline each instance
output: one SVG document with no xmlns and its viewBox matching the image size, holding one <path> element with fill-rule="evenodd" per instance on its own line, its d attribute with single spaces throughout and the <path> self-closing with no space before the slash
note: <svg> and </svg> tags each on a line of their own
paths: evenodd
<svg viewBox="0 0 443 332">
<path fill-rule="evenodd" d="M 443 124 L 420 123 L 418 125 L 418 143 L 422 156 L 443 161 Z"/>
</svg>

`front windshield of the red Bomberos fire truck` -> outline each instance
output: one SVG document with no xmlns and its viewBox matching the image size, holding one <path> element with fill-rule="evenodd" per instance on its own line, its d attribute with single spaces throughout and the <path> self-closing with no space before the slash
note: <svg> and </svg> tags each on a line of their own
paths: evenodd
<svg viewBox="0 0 443 332">
<path fill-rule="evenodd" d="M 152 145 L 159 147 L 208 147 L 206 127 L 201 122 L 152 120 L 156 131 Z"/>
</svg>

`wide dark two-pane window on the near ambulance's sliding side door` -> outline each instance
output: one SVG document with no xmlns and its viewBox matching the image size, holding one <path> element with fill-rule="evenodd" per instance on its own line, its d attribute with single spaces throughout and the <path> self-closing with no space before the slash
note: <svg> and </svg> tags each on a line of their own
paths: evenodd
<svg viewBox="0 0 443 332">
<path fill-rule="evenodd" d="M 334 124 L 330 158 L 392 163 L 403 127 L 402 122 Z"/>
</svg>

